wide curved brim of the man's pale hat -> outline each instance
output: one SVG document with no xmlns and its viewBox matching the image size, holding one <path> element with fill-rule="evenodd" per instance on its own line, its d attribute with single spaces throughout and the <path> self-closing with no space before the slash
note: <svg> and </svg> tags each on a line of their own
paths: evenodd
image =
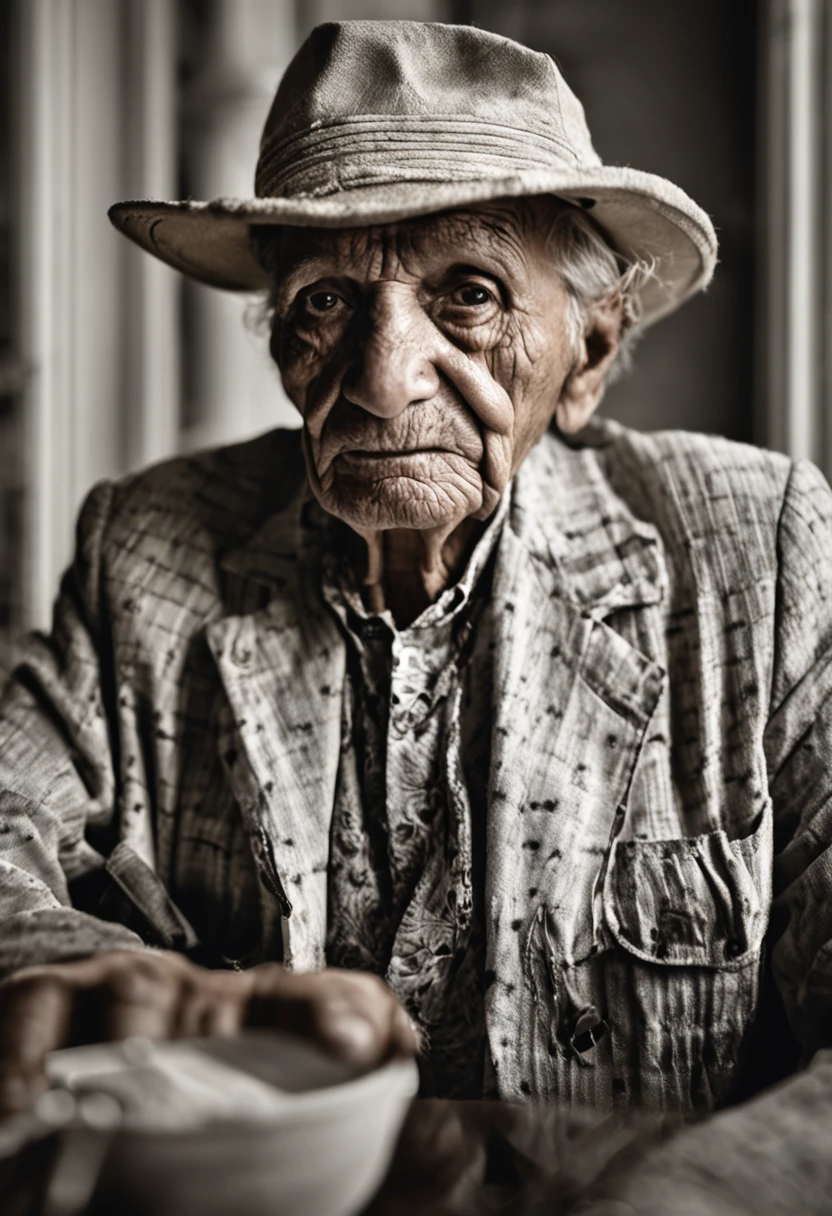
<svg viewBox="0 0 832 1216">
<path fill-rule="evenodd" d="M 269 286 L 254 258 L 253 225 L 367 227 L 472 203 L 557 195 L 591 210 L 623 254 L 654 263 L 641 292 L 641 325 L 658 321 L 707 287 L 716 264 L 708 215 L 664 178 L 639 169 L 588 165 L 528 170 L 478 181 L 394 181 L 324 197 L 125 202 L 113 225 L 148 253 L 212 287 L 257 292 Z"/>
</svg>

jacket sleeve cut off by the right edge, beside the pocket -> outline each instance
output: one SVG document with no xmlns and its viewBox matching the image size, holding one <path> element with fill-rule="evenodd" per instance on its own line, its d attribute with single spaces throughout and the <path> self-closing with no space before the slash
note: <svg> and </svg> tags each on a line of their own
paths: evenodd
<svg viewBox="0 0 832 1216">
<path fill-rule="evenodd" d="M 832 1045 L 832 491 L 793 466 L 777 536 L 771 715 L 771 964 L 809 1059 Z"/>
</svg>

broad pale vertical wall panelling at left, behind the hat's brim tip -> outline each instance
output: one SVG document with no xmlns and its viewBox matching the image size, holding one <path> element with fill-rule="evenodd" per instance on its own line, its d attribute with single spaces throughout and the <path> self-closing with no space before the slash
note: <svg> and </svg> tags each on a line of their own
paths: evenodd
<svg viewBox="0 0 832 1216">
<path fill-rule="evenodd" d="M 176 443 L 176 286 L 107 220 L 139 182 L 173 190 L 173 4 L 18 6 L 27 625 L 49 621 L 89 488 Z"/>
</svg>

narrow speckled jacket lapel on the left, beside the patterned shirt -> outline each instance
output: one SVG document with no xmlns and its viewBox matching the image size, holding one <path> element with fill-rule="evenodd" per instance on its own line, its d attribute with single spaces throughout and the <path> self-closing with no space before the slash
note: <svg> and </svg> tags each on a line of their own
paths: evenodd
<svg viewBox="0 0 832 1216">
<path fill-rule="evenodd" d="M 230 706 L 224 761 L 283 917 L 283 959 L 311 970 L 325 964 L 345 651 L 314 567 L 299 561 L 299 511 L 298 500 L 226 556 L 226 570 L 271 597 L 209 626 L 208 643 Z"/>
</svg>

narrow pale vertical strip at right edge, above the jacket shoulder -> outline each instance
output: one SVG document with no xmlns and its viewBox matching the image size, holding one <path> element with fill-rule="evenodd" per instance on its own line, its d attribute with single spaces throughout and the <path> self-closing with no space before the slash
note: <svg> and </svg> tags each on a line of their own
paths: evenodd
<svg viewBox="0 0 832 1216">
<path fill-rule="evenodd" d="M 759 430 L 832 475 L 832 4 L 765 0 Z"/>
</svg>

